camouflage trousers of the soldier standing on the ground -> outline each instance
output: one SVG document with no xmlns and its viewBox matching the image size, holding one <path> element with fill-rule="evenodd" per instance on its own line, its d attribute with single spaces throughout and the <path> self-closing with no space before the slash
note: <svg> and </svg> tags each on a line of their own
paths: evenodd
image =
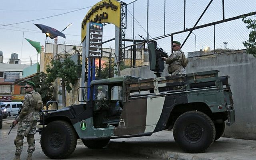
<svg viewBox="0 0 256 160">
<path fill-rule="evenodd" d="M 27 138 L 28 142 L 28 154 L 32 155 L 35 150 L 35 138 L 34 134 L 36 134 L 36 120 L 34 121 L 22 121 L 19 123 L 19 127 L 17 130 L 17 136 L 14 140 L 14 144 L 16 146 L 15 155 L 19 156 L 22 152 L 23 147 L 23 139 L 24 136 Z"/>
</svg>

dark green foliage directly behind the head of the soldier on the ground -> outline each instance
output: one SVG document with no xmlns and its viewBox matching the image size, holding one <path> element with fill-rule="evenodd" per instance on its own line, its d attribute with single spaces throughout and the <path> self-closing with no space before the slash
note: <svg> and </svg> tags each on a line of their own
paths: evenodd
<svg viewBox="0 0 256 160">
<path fill-rule="evenodd" d="M 48 78 L 47 74 L 45 74 L 44 72 L 40 72 L 40 74 L 37 74 L 32 79 L 32 81 L 36 84 L 36 88 L 34 88 L 34 90 L 41 94 L 44 105 L 49 100 L 52 100 L 52 97 L 53 97 L 52 83 L 48 83 L 47 78 Z"/>
</svg>

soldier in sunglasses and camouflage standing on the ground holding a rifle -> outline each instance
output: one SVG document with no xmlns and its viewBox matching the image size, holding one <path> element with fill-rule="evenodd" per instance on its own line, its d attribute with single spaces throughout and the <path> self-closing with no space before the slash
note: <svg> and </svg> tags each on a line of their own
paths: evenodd
<svg viewBox="0 0 256 160">
<path fill-rule="evenodd" d="M 18 124 L 18 122 L 20 122 L 17 130 L 17 136 L 16 136 L 16 139 L 14 140 L 14 144 L 16 146 L 14 160 L 20 160 L 20 154 L 22 152 L 24 136 L 27 138 L 27 142 L 28 142 L 27 160 L 32 160 L 32 153 L 35 150 L 34 134 L 36 134 L 36 122 L 37 120 L 39 120 L 39 112 L 38 110 L 36 110 L 36 102 L 35 102 L 37 101 L 37 98 L 35 97 L 41 98 L 40 94 L 34 91 L 35 86 L 36 85 L 32 81 L 26 82 L 26 85 L 24 88 L 26 92 L 26 96 L 24 98 L 24 104 L 23 104 L 22 110 L 19 116 L 17 117 L 17 119 L 12 122 L 14 126 Z"/>
</svg>

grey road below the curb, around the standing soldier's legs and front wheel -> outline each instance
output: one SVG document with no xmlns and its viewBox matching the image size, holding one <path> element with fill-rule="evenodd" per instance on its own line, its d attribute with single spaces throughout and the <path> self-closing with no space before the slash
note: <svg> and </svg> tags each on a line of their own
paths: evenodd
<svg viewBox="0 0 256 160">
<path fill-rule="evenodd" d="M 3 121 L 3 128 L 0 129 L 0 160 L 12 160 L 14 158 L 15 146 L 14 139 L 16 138 L 17 126 L 12 129 L 11 133 L 8 135 L 10 130 L 10 125 L 14 117 L 8 117 Z M 35 136 L 36 150 L 32 155 L 34 160 L 49 160 L 47 156 L 44 155 L 40 146 L 40 135 L 36 133 Z M 26 159 L 28 143 L 26 138 L 24 138 L 24 147 L 21 154 L 21 160 Z M 140 154 L 134 154 L 132 152 L 124 152 L 111 148 L 103 148 L 100 150 L 92 150 L 84 146 L 82 141 L 79 139 L 75 151 L 70 155 L 68 160 L 158 160 L 161 158 L 152 158 L 151 156 L 145 156 Z"/>
</svg>

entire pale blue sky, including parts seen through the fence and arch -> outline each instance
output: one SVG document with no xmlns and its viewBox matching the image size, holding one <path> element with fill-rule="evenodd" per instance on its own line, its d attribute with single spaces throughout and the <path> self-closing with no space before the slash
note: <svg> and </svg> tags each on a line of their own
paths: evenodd
<svg viewBox="0 0 256 160">
<path fill-rule="evenodd" d="M 122 0 L 129 4 L 134 0 Z M 37 61 L 37 52 L 24 38 L 40 42 L 54 43 L 47 38 L 34 24 L 44 24 L 59 31 L 68 24 L 72 25 L 63 31 L 66 39 L 58 37 L 59 44 L 80 45 L 81 22 L 90 8 L 100 0 L 44 0 L 41 3 L 33 0 L 1 1 L 0 5 L 0 50 L 3 52 L 4 62 L 7 63 L 12 53 L 17 53 L 22 63 Z M 166 0 L 166 30 L 165 34 L 183 30 L 183 0 Z M 192 28 L 210 0 L 186 1 L 186 28 Z M 255 0 L 225 0 L 225 18 L 254 12 Z M 149 38 L 164 35 L 164 0 L 149 0 Z M 138 34 L 146 37 L 146 0 L 135 0 L 134 18 L 132 23 L 132 5 L 127 7 L 126 38 L 138 38 Z M 69 13 L 67 13 L 69 12 Z M 61 14 L 59 16 L 56 16 Z M 222 0 L 213 0 L 198 25 L 222 20 Z M 29 21 L 29 22 L 27 22 Z M 23 23 L 24 22 L 24 23 Z M 34 24 L 33 24 L 34 23 Z M 134 28 L 134 32 L 133 32 Z M 205 46 L 214 48 L 213 26 L 194 30 L 182 48 L 184 52 L 203 49 Z M 242 20 L 226 22 L 215 26 L 216 48 L 224 48 L 223 42 L 228 42 L 231 49 L 244 49 L 242 41 L 248 38 L 249 31 Z M 114 38 L 114 25 L 103 28 L 103 41 Z M 188 32 L 174 35 L 174 40 L 184 41 Z M 196 36 L 195 36 L 196 35 Z M 196 42 L 196 44 L 195 44 Z M 128 43 L 126 43 L 127 45 Z M 158 40 L 158 45 L 170 53 L 170 37 Z M 114 41 L 105 44 L 107 48 L 114 48 Z"/>
</svg>

